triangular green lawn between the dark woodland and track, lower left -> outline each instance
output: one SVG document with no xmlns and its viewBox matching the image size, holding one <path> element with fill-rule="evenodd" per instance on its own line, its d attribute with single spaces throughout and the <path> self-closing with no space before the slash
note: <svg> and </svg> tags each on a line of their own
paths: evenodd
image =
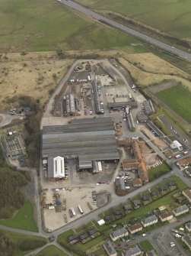
<svg viewBox="0 0 191 256">
<path fill-rule="evenodd" d="M 33 219 L 33 204 L 29 201 L 25 202 L 24 206 L 11 219 L 1 219 L 0 224 L 11 228 L 38 232 L 37 224 Z"/>
</svg>

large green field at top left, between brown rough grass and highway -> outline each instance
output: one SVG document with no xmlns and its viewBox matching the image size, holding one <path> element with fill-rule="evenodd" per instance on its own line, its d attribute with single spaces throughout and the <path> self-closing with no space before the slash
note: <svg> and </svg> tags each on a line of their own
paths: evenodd
<svg viewBox="0 0 191 256">
<path fill-rule="evenodd" d="M 0 0 L 1 52 L 128 47 L 138 41 L 66 8 L 56 0 Z"/>
</svg>

